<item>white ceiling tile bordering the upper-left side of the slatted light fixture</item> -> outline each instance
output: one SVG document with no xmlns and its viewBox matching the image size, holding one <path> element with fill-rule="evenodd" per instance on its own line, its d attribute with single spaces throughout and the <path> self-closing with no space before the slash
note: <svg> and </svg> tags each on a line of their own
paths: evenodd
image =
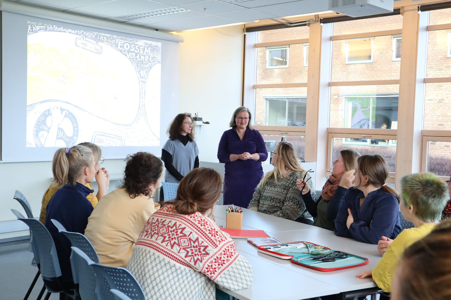
<svg viewBox="0 0 451 300">
<path fill-rule="evenodd" d="M 161 4 L 149 0 L 113 0 L 98 4 L 80 6 L 75 9 L 87 13 L 98 13 L 109 17 L 118 17 L 166 7 L 168 7 L 167 4 Z"/>
</svg>

